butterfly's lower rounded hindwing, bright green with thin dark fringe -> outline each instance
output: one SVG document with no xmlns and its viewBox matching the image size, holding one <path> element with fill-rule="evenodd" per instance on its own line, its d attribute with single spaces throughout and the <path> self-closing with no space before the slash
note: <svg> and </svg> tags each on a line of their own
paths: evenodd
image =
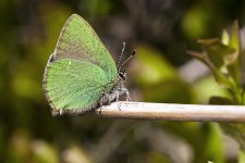
<svg viewBox="0 0 245 163">
<path fill-rule="evenodd" d="M 102 92 L 112 87 L 105 71 L 89 62 L 62 59 L 47 71 L 46 89 L 54 114 L 61 109 L 85 112 L 98 104 Z"/>
</svg>

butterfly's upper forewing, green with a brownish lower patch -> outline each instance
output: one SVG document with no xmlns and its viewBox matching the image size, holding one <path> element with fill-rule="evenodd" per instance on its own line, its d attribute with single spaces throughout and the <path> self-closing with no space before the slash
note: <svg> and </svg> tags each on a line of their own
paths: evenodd
<svg viewBox="0 0 245 163">
<path fill-rule="evenodd" d="M 118 76 L 111 54 L 91 26 L 77 14 L 65 22 L 56 48 L 54 60 L 68 58 L 99 65 L 111 80 Z"/>
</svg>

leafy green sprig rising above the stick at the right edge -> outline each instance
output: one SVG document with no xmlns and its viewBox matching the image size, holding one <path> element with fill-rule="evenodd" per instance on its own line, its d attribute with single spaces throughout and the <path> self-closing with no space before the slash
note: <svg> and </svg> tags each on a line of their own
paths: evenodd
<svg viewBox="0 0 245 163">
<path fill-rule="evenodd" d="M 232 96 L 233 103 L 243 104 L 241 88 L 241 40 L 238 23 L 235 21 L 231 29 L 223 30 L 221 39 L 199 39 L 203 52 L 187 53 L 205 63 L 212 71 L 217 83 Z"/>
</svg>

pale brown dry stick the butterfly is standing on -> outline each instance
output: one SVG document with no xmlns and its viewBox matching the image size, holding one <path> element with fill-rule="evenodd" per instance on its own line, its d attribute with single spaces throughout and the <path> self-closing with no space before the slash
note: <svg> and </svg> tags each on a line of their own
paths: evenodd
<svg viewBox="0 0 245 163">
<path fill-rule="evenodd" d="M 105 117 L 197 122 L 245 122 L 245 106 L 148 102 L 113 102 L 95 114 Z"/>
</svg>

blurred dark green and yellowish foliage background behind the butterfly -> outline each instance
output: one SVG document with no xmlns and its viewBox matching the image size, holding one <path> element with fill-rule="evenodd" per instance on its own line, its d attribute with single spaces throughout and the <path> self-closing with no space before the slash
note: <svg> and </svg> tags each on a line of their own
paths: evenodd
<svg viewBox="0 0 245 163">
<path fill-rule="evenodd" d="M 215 123 L 51 116 L 41 80 L 60 29 L 72 14 L 95 28 L 127 64 L 133 101 L 207 103 L 225 96 L 185 51 L 238 20 L 242 0 L 1 0 L 0 162 L 236 162 L 237 145 Z M 126 58 L 126 57 L 125 57 Z"/>
</svg>

